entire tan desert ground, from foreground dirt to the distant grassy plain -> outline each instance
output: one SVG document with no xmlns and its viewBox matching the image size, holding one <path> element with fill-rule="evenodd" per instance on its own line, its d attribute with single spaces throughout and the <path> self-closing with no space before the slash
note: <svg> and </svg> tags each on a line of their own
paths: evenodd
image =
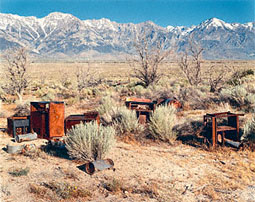
<svg viewBox="0 0 255 202">
<path fill-rule="evenodd" d="M 216 67 L 212 74 L 222 65 L 255 70 L 255 61 L 206 61 L 204 65 Z M 102 80 L 96 87 L 81 91 L 78 98 L 77 67 L 89 68 L 93 79 Z M 31 63 L 30 85 L 23 103 L 15 100 L 14 95 L 4 95 L 0 128 L 6 129 L 7 117 L 30 101 L 63 100 L 65 116 L 68 116 L 97 109 L 105 94 L 112 96 L 116 104 L 124 105 L 127 97 L 155 99 L 168 92 L 173 95 L 188 86 L 176 63 L 164 63 L 161 73 L 164 76 L 159 85 L 143 89 L 133 85 L 136 80 L 132 77 L 132 67 L 126 63 Z M 1 80 L 1 84 L 4 82 Z M 249 83 L 249 89 L 254 88 L 255 76 L 244 83 Z M 224 99 L 214 102 L 216 95 L 210 94 L 206 85 L 200 87 L 200 91 L 199 99 L 193 92 L 190 97 L 182 97 L 184 107 L 176 114 L 176 126 L 179 126 L 176 130 L 180 136 L 196 136 L 201 132 L 206 113 L 228 110 L 244 113 L 240 118 L 241 130 L 254 113 Z M 192 127 L 192 122 L 196 122 L 197 127 Z M 63 151 L 48 150 L 47 140 L 24 142 L 37 146 L 33 152 L 8 154 L 5 148 L 12 143 L 12 137 L 1 130 L 0 200 L 255 201 L 255 152 L 249 148 L 219 146 L 212 149 L 195 138 L 189 141 L 177 138 L 170 144 L 147 138 L 146 134 L 117 134 L 116 139 L 115 146 L 106 155 L 114 161 L 114 169 L 88 175 L 79 168 L 84 162 L 68 158 Z M 19 175 L 20 171 L 23 174 Z"/>
</svg>

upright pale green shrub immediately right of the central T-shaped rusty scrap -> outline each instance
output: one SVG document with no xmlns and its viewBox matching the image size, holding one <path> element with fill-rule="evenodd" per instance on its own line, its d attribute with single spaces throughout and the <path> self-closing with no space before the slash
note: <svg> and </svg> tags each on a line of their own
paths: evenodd
<svg viewBox="0 0 255 202">
<path fill-rule="evenodd" d="M 151 116 L 149 132 L 153 138 L 166 142 L 176 139 L 173 127 L 176 123 L 176 109 L 173 106 L 160 106 L 156 108 Z"/>
</svg>

